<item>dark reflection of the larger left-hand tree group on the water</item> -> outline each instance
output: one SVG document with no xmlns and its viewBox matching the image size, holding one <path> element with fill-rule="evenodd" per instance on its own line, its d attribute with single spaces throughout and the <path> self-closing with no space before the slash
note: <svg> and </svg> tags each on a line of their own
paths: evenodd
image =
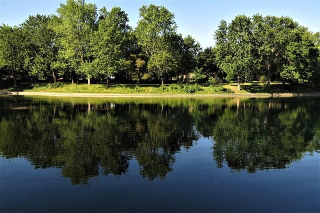
<svg viewBox="0 0 320 213">
<path fill-rule="evenodd" d="M 88 112 L 83 105 L 42 104 L 4 114 L 2 154 L 23 155 L 36 168 L 62 167 L 62 176 L 73 184 L 125 173 L 132 157 L 143 177 L 163 178 L 180 146 L 197 139 L 187 110 L 165 105 L 115 104 Z"/>
</svg>

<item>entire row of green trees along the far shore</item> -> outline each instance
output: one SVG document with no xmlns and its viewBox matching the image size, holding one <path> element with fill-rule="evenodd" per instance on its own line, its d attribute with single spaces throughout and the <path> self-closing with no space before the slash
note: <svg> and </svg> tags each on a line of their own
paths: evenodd
<svg viewBox="0 0 320 213">
<path fill-rule="evenodd" d="M 289 17 L 236 16 L 222 20 L 216 46 L 202 50 L 177 33 L 164 6 L 143 5 L 132 29 L 120 7 L 107 11 L 84 0 L 67 0 L 57 15 L 29 16 L 19 26 L 0 27 L 0 76 L 4 79 L 86 78 L 88 84 L 164 80 L 179 82 L 277 80 L 316 84 L 319 33 Z"/>
</svg>

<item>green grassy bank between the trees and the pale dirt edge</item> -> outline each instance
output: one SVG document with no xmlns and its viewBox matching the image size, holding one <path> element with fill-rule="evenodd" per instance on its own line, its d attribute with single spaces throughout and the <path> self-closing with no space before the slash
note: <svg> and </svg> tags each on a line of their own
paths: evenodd
<svg viewBox="0 0 320 213">
<path fill-rule="evenodd" d="M 305 86 L 273 83 L 270 86 L 260 83 L 242 84 L 240 91 L 236 84 L 220 84 L 216 86 L 206 84 L 71 84 L 71 83 L 34 83 L 21 84 L 8 91 L 45 91 L 45 92 L 84 92 L 84 93 L 117 93 L 117 94 L 231 94 L 231 93 L 303 93 L 318 92 L 318 89 Z"/>
</svg>

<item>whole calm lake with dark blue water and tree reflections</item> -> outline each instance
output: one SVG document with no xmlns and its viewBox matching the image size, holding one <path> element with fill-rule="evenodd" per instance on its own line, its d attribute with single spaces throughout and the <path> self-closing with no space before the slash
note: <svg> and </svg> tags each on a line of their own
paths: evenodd
<svg viewBox="0 0 320 213">
<path fill-rule="evenodd" d="M 0 97 L 0 211 L 319 211 L 320 98 Z"/>
</svg>

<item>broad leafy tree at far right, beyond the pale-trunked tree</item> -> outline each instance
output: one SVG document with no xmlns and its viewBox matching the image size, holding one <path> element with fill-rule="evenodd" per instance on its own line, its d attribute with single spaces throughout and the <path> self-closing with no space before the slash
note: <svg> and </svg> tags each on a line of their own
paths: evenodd
<svg viewBox="0 0 320 213">
<path fill-rule="evenodd" d="M 291 83 L 308 82 L 316 67 L 318 50 L 312 33 L 292 18 L 254 15 L 254 46 L 258 49 L 260 73 Z"/>
</svg>

